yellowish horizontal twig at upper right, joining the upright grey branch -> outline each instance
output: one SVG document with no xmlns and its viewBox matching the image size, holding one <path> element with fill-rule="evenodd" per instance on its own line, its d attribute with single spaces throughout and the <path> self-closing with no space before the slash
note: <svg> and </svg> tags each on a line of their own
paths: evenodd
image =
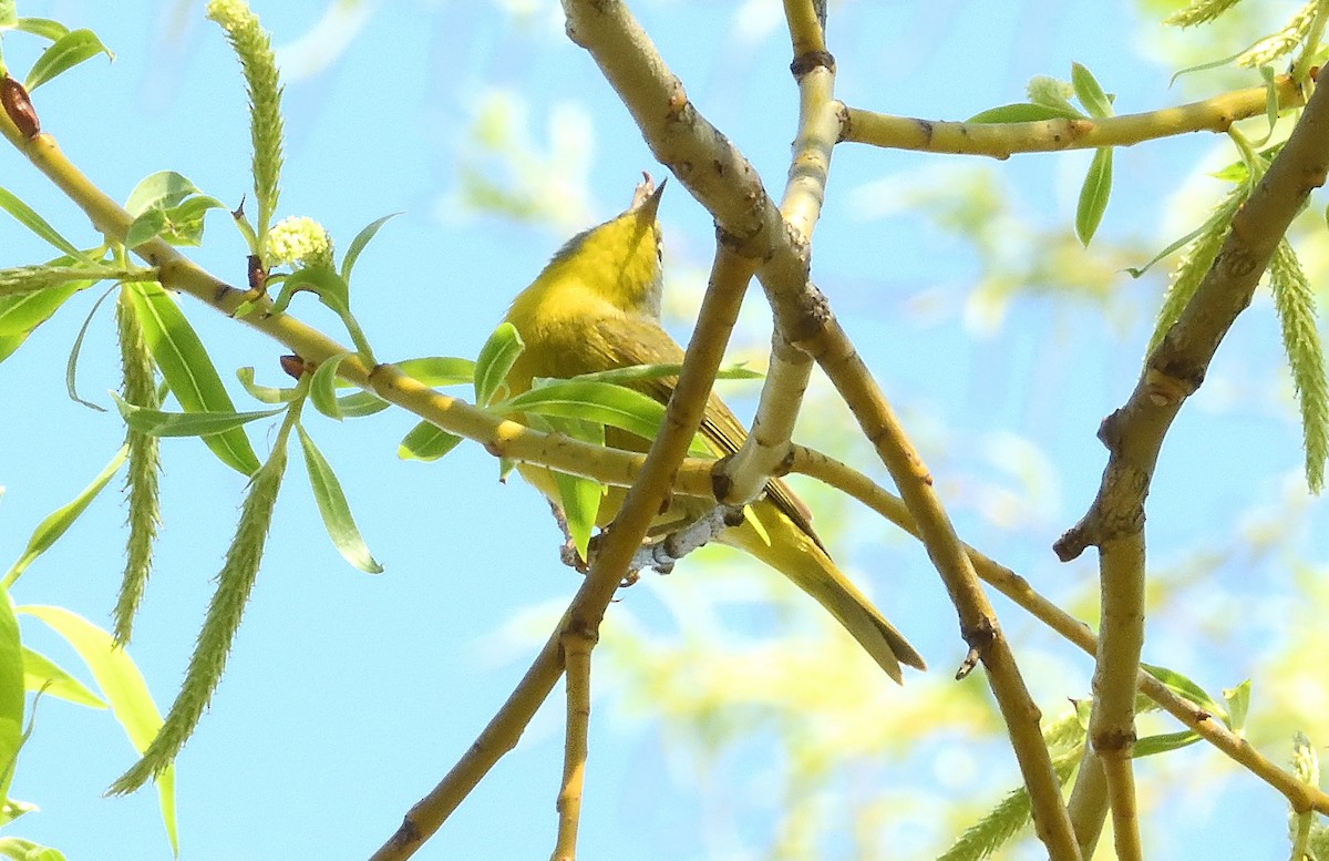
<svg viewBox="0 0 1329 861">
<path fill-rule="evenodd" d="M 1296 108 L 1305 101 L 1290 76 L 1278 76 L 1273 86 L 1280 110 Z M 1268 110 L 1268 97 L 1264 86 L 1252 86 L 1144 113 L 1034 122 L 941 122 L 847 106 L 843 112 L 841 140 L 890 149 L 993 158 L 1009 158 L 1015 153 L 1130 146 L 1192 132 L 1227 132 L 1239 120 L 1263 116 Z"/>
</svg>

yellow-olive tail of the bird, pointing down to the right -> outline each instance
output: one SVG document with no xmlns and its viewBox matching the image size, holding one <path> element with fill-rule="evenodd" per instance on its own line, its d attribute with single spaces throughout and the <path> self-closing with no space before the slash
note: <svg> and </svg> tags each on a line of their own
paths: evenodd
<svg viewBox="0 0 1329 861">
<path fill-rule="evenodd" d="M 816 598 L 896 682 L 901 680 L 901 663 L 926 668 L 909 640 L 840 573 L 812 535 L 769 502 L 758 502 L 748 510 L 750 517 L 755 516 L 762 524 L 769 542 L 751 522 L 726 530 L 720 541 L 755 555 Z"/>
</svg>

